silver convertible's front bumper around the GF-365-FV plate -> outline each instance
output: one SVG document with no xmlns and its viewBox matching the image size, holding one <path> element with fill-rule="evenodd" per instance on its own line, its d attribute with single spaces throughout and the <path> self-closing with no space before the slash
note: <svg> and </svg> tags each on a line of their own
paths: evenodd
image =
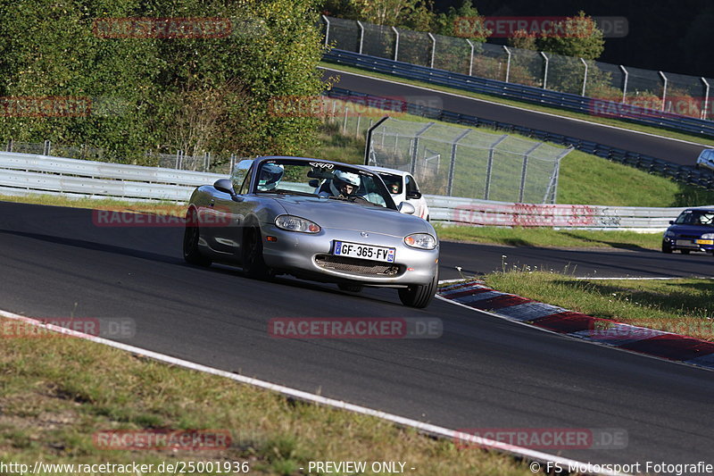
<svg viewBox="0 0 714 476">
<path fill-rule="evenodd" d="M 439 247 L 422 250 L 406 246 L 403 237 L 359 230 L 321 230 L 317 234 L 278 229 L 263 224 L 263 259 L 280 271 L 334 282 L 360 282 L 373 286 L 426 285 L 436 275 Z M 275 240 L 268 240 L 267 237 Z M 335 241 L 394 247 L 394 263 L 340 259 L 332 255 Z"/>
</svg>

